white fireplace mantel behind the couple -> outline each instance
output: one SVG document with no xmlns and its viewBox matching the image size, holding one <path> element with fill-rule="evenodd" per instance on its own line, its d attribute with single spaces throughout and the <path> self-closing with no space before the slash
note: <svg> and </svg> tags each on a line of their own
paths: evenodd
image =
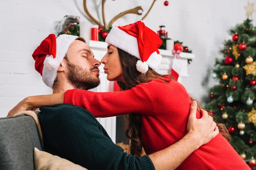
<svg viewBox="0 0 256 170">
<path fill-rule="evenodd" d="M 92 49 L 94 53 L 95 59 L 101 61 L 102 57 L 107 52 L 107 43 L 102 41 L 88 41 L 88 46 Z M 160 74 L 170 74 L 171 66 L 173 63 L 173 54 L 168 50 L 159 50 L 162 55 L 162 61 L 156 70 Z M 181 52 L 180 53 L 180 63 L 182 64 L 182 70 L 180 72 L 180 76 L 178 78 L 178 82 L 182 83 L 182 77 L 188 77 L 188 59 L 194 59 L 195 55 L 191 53 Z M 112 92 L 114 89 L 114 83 L 107 80 L 106 74 L 103 72 L 103 64 L 99 66 L 101 84 L 92 89 L 94 92 Z M 101 125 L 106 129 L 108 135 L 111 137 L 112 141 L 115 143 L 116 141 L 116 117 L 110 118 L 97 118 L 97 120 L 101 123 Z"/>
</svg>

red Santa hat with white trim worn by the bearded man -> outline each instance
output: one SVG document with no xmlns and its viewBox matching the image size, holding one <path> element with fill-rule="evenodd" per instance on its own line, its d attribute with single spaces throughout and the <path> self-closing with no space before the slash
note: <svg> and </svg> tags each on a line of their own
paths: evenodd
<svg viewBox="0 0 256 170">
<path fill-rule="evenodd" d="M 48 35 L 36 48 L 32 57 L 35 60 L 35 69 L 38 71 L 45 85 L 52 89 L 57 76 L 57 70 L 65 57 L 70 44 L 77 38 L 74 35 Z"/>
</svg>

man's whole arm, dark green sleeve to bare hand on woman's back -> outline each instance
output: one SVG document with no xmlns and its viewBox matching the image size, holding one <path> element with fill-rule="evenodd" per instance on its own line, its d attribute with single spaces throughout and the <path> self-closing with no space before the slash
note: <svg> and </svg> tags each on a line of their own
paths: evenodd
<svg viewBox="0 0 256 170">
<path fill-rule="evenodd" d="M 201 119 L 195 117 L 196 105 L 193 105 L 185 137 L 164 150 L 135 158 L 115 145 L 94 116 L 81 107 L 61 104 L 42 107 L 40 111 L 38 118 L 45 151 L 90 170 L 153 170 L 154 167 L 156 170 L 175 169 L 194 150 L 218 133 L 218 129 L 213 132 L 215 126 L 206 111 L 202 112 Z"/>
</svg>

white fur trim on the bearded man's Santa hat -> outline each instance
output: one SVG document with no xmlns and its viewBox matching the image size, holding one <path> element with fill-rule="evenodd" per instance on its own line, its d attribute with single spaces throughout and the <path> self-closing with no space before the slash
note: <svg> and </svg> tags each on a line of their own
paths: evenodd
<svg viewBox="0 0 256 170">
<path fill-rule="evenodd" d="M 70 44 L 72 44 L 72 42 L 74 42 L 76 38 L 77 36 L 74 35 L 59 35 L 56 38 L 56 57 L 55 59 L 52 58 L 54 61 L 49 61 L 48 63 L 48 60 L 51 60 L 49 55 L 47 55 L 45 58 L 45 60 L 47 60 L 45 61 L 47 64 L 43 66 L 42 78 L 45 85 L 47 85 L 51 89 L 57 76 L 58 67 L 61 64 L 63 58 L 65 57 L 65 54 L 67 53 L 67 50 L 70 47 Z M 50 66 L 52 63 L 55 63 L 56 65 L 53 65 L 54 67 Z"/>
</svg>

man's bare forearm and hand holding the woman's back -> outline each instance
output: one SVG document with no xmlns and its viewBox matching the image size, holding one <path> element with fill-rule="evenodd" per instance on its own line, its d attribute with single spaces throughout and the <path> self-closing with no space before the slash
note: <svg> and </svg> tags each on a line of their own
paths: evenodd
<svg viewBox="0 0 256 170">
<path fill-rule="evenodd" d="M 175 144 L 149 155 L 156 170 L 173 170 L 191 153 L 203 144 L 207 144 L 219 133 L 218 126 L 207 111 L 200 110 L 202 118 L 196 118 L 197 103 L 193 101 L 190 107 L 188 133 Z"/>
</svg>

